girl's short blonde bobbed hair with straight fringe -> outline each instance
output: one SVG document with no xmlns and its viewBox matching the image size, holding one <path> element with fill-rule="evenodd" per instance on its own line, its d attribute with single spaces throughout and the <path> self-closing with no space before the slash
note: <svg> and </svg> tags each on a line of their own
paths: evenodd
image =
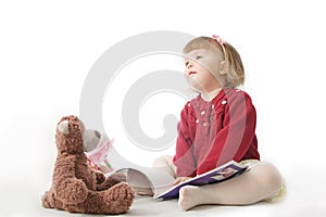
<svg viewBox="0 0 326 217">
<path fill-rule="evenodd" d="M 224 49 L 222 48 L 224 47 Z M 244 68 L 238 51 L 228 42 L 222 44 L 215 39 L 201 36 L 189 41 L 185 48 L 184 53 L 198 49 L 218 49 L 226 61 L 226 85 L 225 87 L 238 87 L 244 82 Z"/>
</svg>

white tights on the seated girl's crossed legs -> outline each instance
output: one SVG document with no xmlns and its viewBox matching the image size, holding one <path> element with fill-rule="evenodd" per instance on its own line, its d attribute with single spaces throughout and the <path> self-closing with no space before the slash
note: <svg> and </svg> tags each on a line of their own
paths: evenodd
<svg viewBox="0 0 326 217">
<path fill-rule="evenodd" d="M 174 176 L 175 167 L 170 156 L 159 157 L 154 166 L 166 166 Z M 241 176 L 216 184 L 185 186 L 179 190 L 178 205 L 188 210 L 198 205 L 248 205 L 276 195 L 281 188 L 281 176 L 269 163 L 255 163 Z"/>
</svg>

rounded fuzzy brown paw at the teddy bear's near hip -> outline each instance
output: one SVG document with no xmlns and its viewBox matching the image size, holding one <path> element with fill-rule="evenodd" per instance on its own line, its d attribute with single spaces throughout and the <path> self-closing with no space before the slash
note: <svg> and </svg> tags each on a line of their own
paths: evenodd
<svg viewBox="0 0 326 217">
<path fill-rule="evenodd" d="M 64 204 L 78 204 L 87 199 L 88 189 L 77 178 L 63 177 L 53 184 L 54 195 Z"/>
</svg>

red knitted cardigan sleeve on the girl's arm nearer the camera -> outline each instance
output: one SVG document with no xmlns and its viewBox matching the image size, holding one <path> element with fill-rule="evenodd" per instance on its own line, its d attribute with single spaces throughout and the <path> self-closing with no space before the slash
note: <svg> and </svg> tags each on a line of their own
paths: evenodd
<svg viewBox="0 0 326 217">
<path fill-rule="evenodd" d="M 256 114 L 250 97 L 243 91 L 233 91 L 225 99 L 223 127 L 215 126 L 215 138 L 209 144 L 206 154 L 198 162 L 197 174 L 203 174 L 230 159 L 239 162 L 243 157 L 260 158 L 254 132 Z"/>
</svg>

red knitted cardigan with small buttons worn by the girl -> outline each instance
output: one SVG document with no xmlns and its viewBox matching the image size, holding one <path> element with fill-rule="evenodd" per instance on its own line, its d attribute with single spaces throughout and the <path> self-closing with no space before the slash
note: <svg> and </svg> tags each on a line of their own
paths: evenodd
<svg viewBox="0 0 326 217">
<path fill-rule="evenodd" d="M 244 91 L 224 89 L 211 102 L 198 95 L 180 116 L 173 158 L 178 177 L 193 177 L 230 159 L 260 159 L 255 108 Z"/>
</svg>

